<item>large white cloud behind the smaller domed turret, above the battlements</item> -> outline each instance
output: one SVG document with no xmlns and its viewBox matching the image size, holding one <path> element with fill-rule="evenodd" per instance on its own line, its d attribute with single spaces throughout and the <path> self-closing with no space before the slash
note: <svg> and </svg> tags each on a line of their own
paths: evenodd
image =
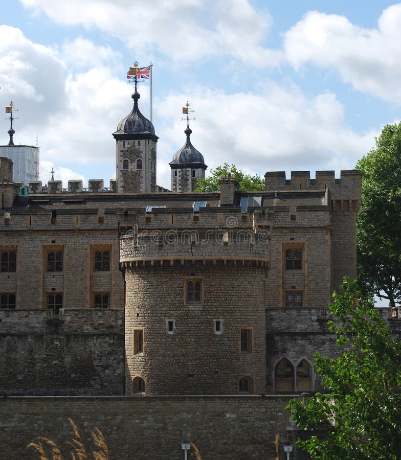
<svg viewBox="0 0 401 460">
<path fill-rule="evenodd" d="M 348 128 L 344 108 L 332 93 L 307 98 L 300 88 L 266 82 L 263 94 L 227 95 L 204 87 L 192 88 L 191 140 L 214 168 L 234 163 L 246 172 L 263 175 L 274 170 L 353 169 L 373 146 L 378 131 L 363 135 Z M 183 94 L 170 94 L 158 104 L 158 117 L 165 120 L 158 145 L 158 164 L 167 164 L 185 143 L 184 122 L 177 113 Z M 170 153 L 165 154 L 166 151 Z M 289 165 L 289 166 L 288 166 Z M 159 175 L 168 186 L 169 176 Z"/>
</svg>

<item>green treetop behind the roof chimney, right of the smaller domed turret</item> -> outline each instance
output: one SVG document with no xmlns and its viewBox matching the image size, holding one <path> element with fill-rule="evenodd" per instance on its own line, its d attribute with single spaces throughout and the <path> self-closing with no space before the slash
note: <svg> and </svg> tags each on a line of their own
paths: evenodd
<svg viewBox="0 0 401 460">
<path fill-rule="evenodd" d="M 215 169 L 210 170 L 211 175 L 206 179 L 198 179 L 196 182 L 195 192 L 218 192 L 220 190 L 219 180 L 231 174 L 235 180 L 237 190 L 253 191 L 264 190 L 264 179 L 251 174 L 244 174 L 237 169 L 235 165 L 225 163 L 222 166 L 217 166 Z"/>
</svg>

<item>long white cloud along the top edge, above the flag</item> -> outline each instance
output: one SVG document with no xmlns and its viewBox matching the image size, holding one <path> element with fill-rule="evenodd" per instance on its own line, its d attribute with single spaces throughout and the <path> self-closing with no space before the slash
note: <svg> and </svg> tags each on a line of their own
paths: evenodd
<svg viewBox="0 0 401 460">
<path fill-rule="evenodd" d="M 253 65 L 278 65 L 281 53 L 262 47 L 270 26 L 267 12 L 248 0 L 21 0 L 35 14 L 58 24 L 97 28 L 121 39 L 138 57 L 155 52 L 186 63 L 232 56 Z"/>
</svg>

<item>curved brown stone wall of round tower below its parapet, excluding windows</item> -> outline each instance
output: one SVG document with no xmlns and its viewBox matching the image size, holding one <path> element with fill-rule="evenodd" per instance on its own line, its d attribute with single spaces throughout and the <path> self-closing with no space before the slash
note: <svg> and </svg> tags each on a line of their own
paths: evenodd
<svg viewBox="0 0 401 460">
<path fill-rule="evenodd" d="M 126 270 L 127 393 L 136 376 L 148 395 L 237 394 L 243 376 L 264 393 L 264 276 L 264 268 L 219 261 Z M 186 302 L 187 277 L 203 280 L 202 304 Z M 213 319 L 222 319 L 221 334 Z M 174 320 L 173 334 L 166 320 Z M 143 328 L 141 354 L 133 350 L 134 328 Z M 240 328 L 253 328 L 253 353 L 240 351 Z"/>
</svg>

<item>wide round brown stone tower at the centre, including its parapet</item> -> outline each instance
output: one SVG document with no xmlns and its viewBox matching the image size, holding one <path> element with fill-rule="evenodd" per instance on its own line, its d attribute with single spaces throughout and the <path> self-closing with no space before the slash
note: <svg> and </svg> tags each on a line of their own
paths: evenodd
<svg viewBox="0 0 401 460">
<path fill-rule="evenodd" d="M 122 236 L 126 394 L 264 393 L 269 260 L 251 230 Z"/>
</svg>

